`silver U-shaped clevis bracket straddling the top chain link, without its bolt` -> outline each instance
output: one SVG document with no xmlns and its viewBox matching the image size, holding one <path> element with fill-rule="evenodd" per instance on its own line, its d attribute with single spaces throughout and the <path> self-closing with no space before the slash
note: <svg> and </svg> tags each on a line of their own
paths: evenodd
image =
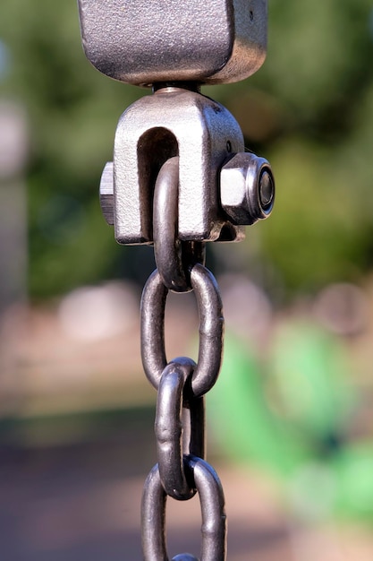
<svg viewBox="0 0 373 561">
<path fill-rule="evenodd" d="M 174 156 L 179 156 L 179 238 L 242 239 L 244 230 L 221 209 L 217 181 L 227 157 L 242 151 L 240 126 L 212 99 L 165 88 L 136 101 L 123 113 L 115 134 L 115 239 L 120 244 L 152 242 L 155 181 Z"/>
</svg>

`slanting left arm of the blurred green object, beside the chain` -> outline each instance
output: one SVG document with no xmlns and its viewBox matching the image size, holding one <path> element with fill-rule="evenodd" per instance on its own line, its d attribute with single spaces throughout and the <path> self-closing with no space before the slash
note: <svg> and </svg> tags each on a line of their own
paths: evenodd
<svg viewBox="0 0 373 561">
<path fill-rule="evenodd" d="M 311 457 L 296 427 L 279 422 L 269 410 L 263 368 L 232 332 L 225 335 L 224 363 L 208 394 L 211 424 L 225 452 L 287 477 Z"/>
</svg>

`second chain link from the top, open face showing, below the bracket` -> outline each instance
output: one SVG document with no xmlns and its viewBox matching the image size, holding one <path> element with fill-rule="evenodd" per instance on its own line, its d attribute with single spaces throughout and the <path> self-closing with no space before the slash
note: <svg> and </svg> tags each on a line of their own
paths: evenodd
<svg viewBox="0 0 373 561">
<path fill-rule="evenodd" d="M 216 383 L 222 352 L 223 305 L 214 275 L 196 263 L 191 269 L 191 287 L 199 308 L 199 358 L 191 379 L 195 397 Z M 168 290 L 157 272 L 152 273 L 141 298 L 141 357 L 148 380 L 157 389 L 167 365 L 165 358 L 165 300 Z"/>
</svg>

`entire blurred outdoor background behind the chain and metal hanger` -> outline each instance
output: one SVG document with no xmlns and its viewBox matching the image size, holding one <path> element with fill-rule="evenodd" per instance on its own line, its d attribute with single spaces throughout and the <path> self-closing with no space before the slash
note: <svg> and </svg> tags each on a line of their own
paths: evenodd
<svg viewBox="0 0 373 561">
<path fill-rule="evenodd" d="M 225 361 L 208 459 L 231 561 L 373 555 L 373 7 L 269 1 L 267 61 L 206 88 L 276 175 L 269 220 L 208 247 Z M 75 0 L 0 4 L 0 541 L 5 561 L 140 559 L 156 394 L 140 364 L 151 248 L 98 204 L 118 118 L 148 91 L 81 49 Z M 168 356 L 194 355 L 191 295 Z M 169 501 L 170 553 L 199 551 L 199 504 Z"/>
</svg>

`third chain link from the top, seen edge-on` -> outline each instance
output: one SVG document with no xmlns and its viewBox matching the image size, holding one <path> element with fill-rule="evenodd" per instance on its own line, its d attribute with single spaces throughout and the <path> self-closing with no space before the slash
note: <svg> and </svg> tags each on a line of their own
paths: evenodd
<svg viewBox="0 0 373 561">
<path fill-rule="evenodd" d="M 177 500 L 188 500 L 196 493 L 185 476 L 183 453 L 205 457 L 205 398 L 195 398 L 188 391 L 194 367 L 191 358 L 177 358 L 167 365 L 157 395 L 155 431 L 159 474 L 166 494 Z M 183 411 L 189 412 L 189 419 L 185 419 Z M 185 430 L 186 425 L 189 430 Z M 185 447 L 183 434 L 188 438 L 184 438 Z"/>
</svg>

